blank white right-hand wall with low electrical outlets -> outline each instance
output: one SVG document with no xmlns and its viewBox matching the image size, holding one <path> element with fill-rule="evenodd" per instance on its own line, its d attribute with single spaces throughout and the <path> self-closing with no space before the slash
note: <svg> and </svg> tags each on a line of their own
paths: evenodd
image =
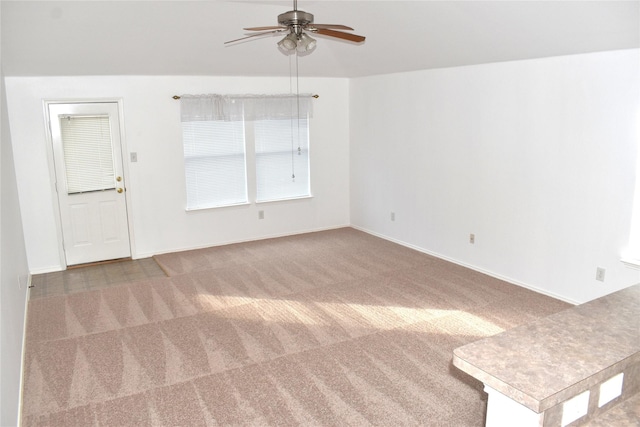
<svg viewBox="0 0 640 427">
<path fill-rule="evenodd" d="M 620 262 L 639 62 L 626 50 L 351 80 L 352 224 L 568 301 L 639 282 Z"/>
</svg>

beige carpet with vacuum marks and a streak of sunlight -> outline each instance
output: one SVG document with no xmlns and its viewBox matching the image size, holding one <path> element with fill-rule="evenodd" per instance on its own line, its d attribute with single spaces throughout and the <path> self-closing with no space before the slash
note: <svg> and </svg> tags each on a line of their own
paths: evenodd
<svg viewBox="0 0 640 427">
<path fill-rule="evenodd" d="M 25 426 L 481 426 L 453 349 L 568 307 L 350 228 L 156 260 L 29 302 Z"/>
</svg>

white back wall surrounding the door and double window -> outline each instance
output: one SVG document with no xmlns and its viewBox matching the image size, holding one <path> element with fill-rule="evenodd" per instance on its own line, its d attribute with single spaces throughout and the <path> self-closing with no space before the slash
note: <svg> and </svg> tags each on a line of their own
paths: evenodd
<svg viewBox="0 0 640 427">
<path fill-rule="evenodd" d="M 18 190 L 32 273 L 63 267 L 43 100 L 121 98 L 134 257 L 349 225 L 348 80 L 301 79 L 314 101 L 313 198 L 186 212 L 183 93 L 288 93 L 288 78 L 202 76 L 7 77 Z M 138 162 L 129 162 L 129 152 Z M 265 219 L 258 220 L 258 210 Z"/>
</svg>

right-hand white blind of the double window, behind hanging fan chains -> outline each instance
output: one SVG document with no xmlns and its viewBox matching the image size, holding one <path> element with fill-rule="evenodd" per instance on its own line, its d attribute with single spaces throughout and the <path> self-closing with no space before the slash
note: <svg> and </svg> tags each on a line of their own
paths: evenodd
<svg viewBox="0 0 640 427">
<path fill-rule="evenodd" d="M 308 120 L 257 120 L 256 200 L 310 195 Z"/>
</svg>

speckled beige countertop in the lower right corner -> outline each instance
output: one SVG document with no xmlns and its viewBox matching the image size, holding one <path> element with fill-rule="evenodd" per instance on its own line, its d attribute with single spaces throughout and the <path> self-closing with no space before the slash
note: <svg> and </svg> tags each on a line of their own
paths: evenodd
<svg viewBox="0 0 640 427">
<path fill-rule="evenodd" d="M 640 284 L 453 354 L 459 369 L 540 413 L 640 360 Z"/>
</svg>

